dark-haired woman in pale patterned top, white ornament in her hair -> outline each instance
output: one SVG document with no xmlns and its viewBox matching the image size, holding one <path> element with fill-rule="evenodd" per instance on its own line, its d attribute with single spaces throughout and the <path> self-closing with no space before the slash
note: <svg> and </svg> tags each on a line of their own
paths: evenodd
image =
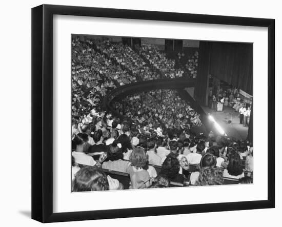
<svg viewBox="0 0 282 227">
<path fill-rule="evenodd" d="M 109 145 L 107 159 L 103 162 L 102 168 L 126 173 L 130 162 L 123 160 L 123 158 L 124 155 L 122 150 L 118 148 L 116 142 L 113 142 Z"/>
</svg>

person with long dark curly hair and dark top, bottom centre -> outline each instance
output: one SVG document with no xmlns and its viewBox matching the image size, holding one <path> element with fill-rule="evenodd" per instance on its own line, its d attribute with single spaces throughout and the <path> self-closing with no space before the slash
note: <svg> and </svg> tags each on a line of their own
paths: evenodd
<svg viewBox="0 0 282 227">
<path fill-rule="evenodd" d="M 171 153 L 167 156 L 163 163 L 160 175 L 167 177 L 170 181 L 183 183 L 185 177 L 179 174 L 180 164 L 175 154 Z"/>
</svg>

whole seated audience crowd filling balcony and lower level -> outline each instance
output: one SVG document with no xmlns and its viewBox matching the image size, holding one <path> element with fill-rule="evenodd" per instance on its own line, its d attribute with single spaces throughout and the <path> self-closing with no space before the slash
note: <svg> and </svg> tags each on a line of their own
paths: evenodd
<svg viewBox="0 0 282 227">
<path fill-rule="evenodd" d="M 200 116 L 174 90 L 127 96 L 112 104 L 118 115 L 103 110 L 107 92 L 159 78 L 155 69 L 170 78 L 178 72 L 153 46 L 135 52 L 109 40 L 72 40 L 72 191 L 252 183 L 252 143 L 194 133 Z"/>
</svg>

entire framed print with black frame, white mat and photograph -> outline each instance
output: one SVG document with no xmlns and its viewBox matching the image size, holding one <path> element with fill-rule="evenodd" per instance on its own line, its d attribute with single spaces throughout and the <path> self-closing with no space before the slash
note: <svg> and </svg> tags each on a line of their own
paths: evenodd
<svg viewBox="0 0 282 227">
<path fill-rule="evenodd" d="M 274 30 L 265 18 L 33 8 L 32 218 L 274 208 Z"/>
</svg>

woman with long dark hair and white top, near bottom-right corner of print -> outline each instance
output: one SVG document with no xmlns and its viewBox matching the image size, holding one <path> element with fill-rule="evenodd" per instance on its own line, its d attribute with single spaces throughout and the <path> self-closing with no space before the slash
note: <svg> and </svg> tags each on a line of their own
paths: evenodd
<svg viewBox="0 0 282 227">
<path fill-rule="evenodd" d="M 223 171 L 223 176 L 235 179 L 243 178 L 245 175 L 243 168 L 241 167 L 240 155 L 237 152 L 232 151 L 229 155 L 228 161 L 229 163 L 227 168 Z"/>
</svg>

